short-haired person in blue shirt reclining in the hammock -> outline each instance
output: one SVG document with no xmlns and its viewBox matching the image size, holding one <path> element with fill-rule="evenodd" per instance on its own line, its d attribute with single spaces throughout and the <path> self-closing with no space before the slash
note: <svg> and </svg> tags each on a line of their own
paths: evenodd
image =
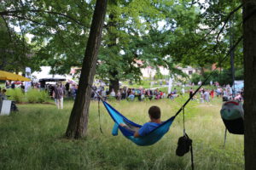
<svg viewBox="0 0 256 170">
<path fill-rule="evenodd" d="M 150 121 L 143 124 L 143 127 L 140 127 L 140 128 L 134 128 L 134 127 L 131 127 L 124 123 L 120 123 L 119 125 L 130 129 L 131 131 L 134 132 L 133 136 L 135 138 L 139 138 L 139 137 L 147 135 L 152 130 L 154 130 L 154 128 L 159 127 L 161 124 L 161 120 L 160 120 L 161 111 L 158 106 L 156 106 L 156 105 L 151 106 L 148 110 L 148 116 L 150 118 Z"/>
</svg>

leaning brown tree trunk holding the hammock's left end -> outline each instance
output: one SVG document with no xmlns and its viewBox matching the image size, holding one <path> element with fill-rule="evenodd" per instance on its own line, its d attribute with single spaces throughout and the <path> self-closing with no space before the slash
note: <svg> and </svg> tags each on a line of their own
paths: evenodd
<svg viewBox="0 0 256 170">
<path fill-rule="evenodd" d="M 89 84 L 92 84 L 96 73 L 96 59 L 101 44 L 102 27 L 106 10 L 107 0 L 97 0 L 90 26 L 90 36 L 84 54 L 78 94 L 69 117 L 66 131 L 66 137 L 70 139 L 83 137 L 87 130 L 91 93 Z"/>
</svg>

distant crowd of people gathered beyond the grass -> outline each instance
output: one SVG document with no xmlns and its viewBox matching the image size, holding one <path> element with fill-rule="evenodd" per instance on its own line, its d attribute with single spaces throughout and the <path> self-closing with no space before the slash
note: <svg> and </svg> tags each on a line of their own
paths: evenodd
<svg viewBox="0 0 256 170">
<path fill-rule="evenodd" d="M 15 88 L 15 82 L 7 82 L 6 86 L 11 86 L 11 88 Z M 21 83 L 20 86 L 21 89 L 24 89 L 23 83 Z M 78 93 L 78 85 L 75 83 L 61 83 L 56 82 L 54 84 L 45 84 L 44 88 L 40 87 L 39 83 L 32 83 L 32 88 L 38 88 L 41 90 L 45 90 L 47 93 L 49 93 L 49 96 L 51 96 L 52 99 L 55 99 L 55 104 L 57 105 L 58 109 L 63 109 L 63 98 L 71 98 L 75 99 Z M 151 88 L 151 89 L 145 89 L 145 88 L 120 88 L 118 91 L 114 91 L 113 89 L 108 89 L 106 86 L 93 86 L 93 89 L 91 89 L 91 99 L 99 99 L 98 94 L 102 97 L 104 100 L 123 100 L 127 99 L 129 101 L 143 101 L 143 100 L 153 100 L 153 99 L 175 99 L 179 97 L 180 95 L 189 94 L 189 97 L 192 100 L 198 100 L 200 103 L 209 103 L 211 99 L 214 97 L 217 98 L 223 98 L 223 100 L 228 99 L 236 99 L 236 100 L 243 100 L 243 90 L 236 91 L 236 95 L 233 95 L 232 88 L 230 85 L 217 88 L 214 87 L 214 89 L 206 89 L 201 88 L 197 94 L 194 94 L 194 89 L 190 88 L 189 90 L 185 90 L 184 87 L 182 87 L 180 90 L 177 90 L 176 88 L 173 88 L 172 92 L 167 94 L 165 91 L 162 91 L 158 88 Z M 5 89 L 3 89 L 5 90 Z M 1 91 L 1 95 L 5 94 L 5 91 Z M 2 95 L 3 96 L 3 95 Z M 3 98 L 2 98 L 3 100 Z"/>
</svg>

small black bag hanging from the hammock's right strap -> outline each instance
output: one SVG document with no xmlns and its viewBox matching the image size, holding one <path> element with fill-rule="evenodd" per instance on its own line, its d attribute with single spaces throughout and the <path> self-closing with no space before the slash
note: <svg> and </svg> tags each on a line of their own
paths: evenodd
<svg viewBox="0 0 256 170">
<path fill-rule="evenodd" d="M 189 136 L 187 134 L 185 134 L 177 141 L 176 155 L 184 156 L 186 153 L 189 152 L 190 147 L 192 147 L 192 140 L 189 139 Z"/>
</svg>

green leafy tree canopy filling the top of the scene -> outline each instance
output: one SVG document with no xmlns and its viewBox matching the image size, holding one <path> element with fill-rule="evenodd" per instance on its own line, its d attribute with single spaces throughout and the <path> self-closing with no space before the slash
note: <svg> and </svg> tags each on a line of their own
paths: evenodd
<svg viewBox="0 0 256 170">
<path fill-rule="evenodd" d="M 233 42 L 241 35 L 241 9 L 232 15 L 232 25 L 224 27 L 218 41 L 216 37 L 229 13 L 239 4 L 238 0 L 111 1 L 98 55 L 97 77 L 139 81 L 140 69 L 148 65 L 162 65 L 172 75 L 182 76 L 177 64 L 205 67 L 218 63 L 229 68 L 228 59 L 219 62 L 230 48 L 230 35 Z M 70 67 L 80 67 L 94 6 L 95 1 L 79 0 L 4 1 L 0 14 L 7 25 L 0 20 L 4 40 L 0 45 L 10 47 L 8 27 L 22 28 L 21 32 L 10 29 L 13 37 L 17 37 L 15 42 L 19 42 L 18 48 L 12 44 L 12 50 L 19 56 L 12 58 L 15 64 L 10 66 L 22 70 L 25 65 L 35 69 L 39 64 L 50 65 L 52 73 L 69 73 Z M 25 41 L 27 33 L 34 36 L 29 45 Z M 235 53 L 237 66 L 242 65 L 241 52 L 239 44 Z M 5 59 L 6 56 L 2 60 Z M 138 65 L 138 60 L 143 64 Z"/>
</svg>

